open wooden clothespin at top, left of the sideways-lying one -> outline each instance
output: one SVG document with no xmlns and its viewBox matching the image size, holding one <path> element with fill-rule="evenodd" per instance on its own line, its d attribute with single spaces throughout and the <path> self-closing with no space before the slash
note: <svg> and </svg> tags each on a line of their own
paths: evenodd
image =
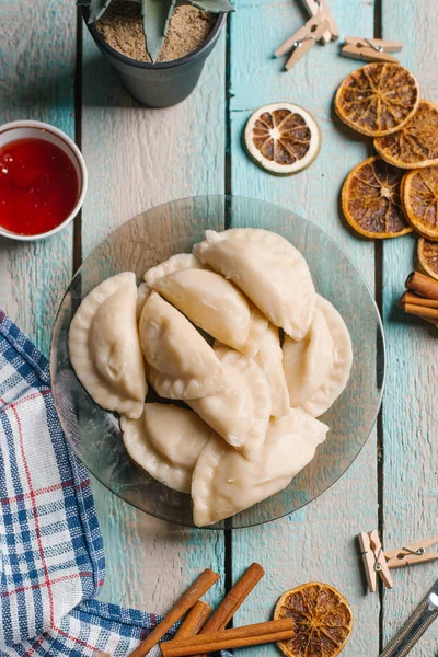
<svg viewBox="0 0 438 657">
<path fill-rule="evenodd" d="M 292 50 L 286 62 L 286 70 L 291 69 L 318 41 L 326 44 L 339 36 L 326 0 L 304 0 L 304 4 L 312 14 L 311 18 L 275 51 L 275 57 L 281 57 Z"/>
</svg>

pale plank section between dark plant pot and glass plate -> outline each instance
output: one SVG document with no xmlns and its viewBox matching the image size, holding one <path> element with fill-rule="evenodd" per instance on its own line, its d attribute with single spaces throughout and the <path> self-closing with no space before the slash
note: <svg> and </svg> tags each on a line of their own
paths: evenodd
<svg viewBox="0 0 438 657">
<path fill-rule="evenodd" d="M 174 107 L 147 110 L 124 91 L 84 28 L 82 141 L 90 169 L 84 256 L 151 206 L 223 193 L 223 62 L 224 34 L 192 96 Z"/>
</svg>

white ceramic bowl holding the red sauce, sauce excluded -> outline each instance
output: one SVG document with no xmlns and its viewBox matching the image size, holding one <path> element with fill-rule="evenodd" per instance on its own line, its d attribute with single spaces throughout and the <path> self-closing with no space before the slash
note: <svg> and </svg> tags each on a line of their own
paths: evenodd
<svg viewBox="0 0 438 657">
<path fill-rule="evenodd" d="M 62 130 L 59 130 L 58 128 L 39 120 L 14 120 L 13 123 L 8 123 L 0 126 L 0 148 L 7 143 L 10 143 L 11 141 L 16 141 L 16 139 L 28 138 L 50 141 L 50 143 L 55 143 L 69 157 L 78 176 L 79 192 L 78 200 L 70 215 L 61 223 L 59 223 L 59 226 L 53 228 L 51 230 L 38 233 L 36 235 L 20 235 L 11 232 L 10 230 L 5 230 L 0 226 L 0 235 L 24 242 L 33 242 L 35 240 L 49 238 L 50 235 L 54 235 L 66 228 L 66 226 L 68 226 L 70 221 L 74 219 L 81 209 L 88 186 L 87 166 L 82 153 L 74 141 L 72 141 L 65 132 L 62 132 Z"/>
</svg>

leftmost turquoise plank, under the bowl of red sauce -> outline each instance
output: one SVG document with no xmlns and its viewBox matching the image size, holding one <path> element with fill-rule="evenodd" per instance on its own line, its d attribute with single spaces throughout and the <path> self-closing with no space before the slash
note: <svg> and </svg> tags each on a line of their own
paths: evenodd
<svg viewBox="0 0 438 657">
<path fill-rule="evenodd" d="M 1 123 L 33 118 L 73 137 L 74 4 L 12 0 L 2 4 L 1 26 Z M 71 235 L 70 227 L 41 242 L 0 238 L 0 307 L 46 355 L 71 275 Z"/>
</svg>

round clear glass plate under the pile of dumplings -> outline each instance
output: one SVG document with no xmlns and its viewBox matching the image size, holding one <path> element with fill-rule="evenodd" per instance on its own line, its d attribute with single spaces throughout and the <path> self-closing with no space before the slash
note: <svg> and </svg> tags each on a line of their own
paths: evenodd
<svg viewBox="0 0 438 657">
<path fill-rule="evenodd" d="M 318 291 L 333 302 L 348 326 L 354 361 L 346 390 L 322 418 L 330 426 L 330 434 L 313 461 L 285 491 L 214 529 L 267 522 L 296 511 L 324 493 L 360 452 L 382 397 L 384 341 L 378 309 L 350 260 L 316 226 L 262 200 L 227 196 L 172 201 L 126 222 L 88 256 L 62 299 L 50 353 L 54 400 L 67 439 L 100 482 L 138 509 L 186 527 L 194 527 L 191 497 L 169 489 L 130 461 L 117 414 L 97 406 L 74 374 L 68 356 L 68 330 L 82 299 L 108 276 L 131 270 L 140 283 L 149 267 L 174 253 L 189 252 L 195 242 L 204 239 L 206 229 L 238 226 L 273 230 L 301 251 Z"/>
</svg>

